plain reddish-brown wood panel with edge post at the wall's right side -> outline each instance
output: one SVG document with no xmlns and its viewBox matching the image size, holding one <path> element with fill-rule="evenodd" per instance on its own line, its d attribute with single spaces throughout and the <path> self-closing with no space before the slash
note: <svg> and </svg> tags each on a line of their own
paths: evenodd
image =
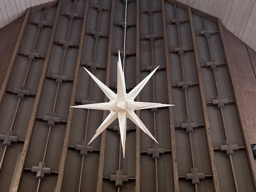
<svg viewBox="0 0 256 192">
<path fill-rule="evenodd" d="M 251 170 L 254 189 L 256 189 L 256 166 L 250 145 L 251 133 L 255 133 L 256 105 L 253 102 L 255 100 L 252 100 L 255 96 L 252 97 L 252 95 L 255 95 L 256 79 L 246 45 L 222 27 L 219 19 L 217 19 L 217 29 L 222 40 L 224 60 L 228 64 L 226 69 L 236 101 L 236 110 L 246 147 L 247 161 Z"/>
</svg>

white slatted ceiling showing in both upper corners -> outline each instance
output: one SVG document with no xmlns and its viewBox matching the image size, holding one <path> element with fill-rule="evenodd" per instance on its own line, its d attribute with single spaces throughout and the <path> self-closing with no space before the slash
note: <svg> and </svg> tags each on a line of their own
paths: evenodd
<svg viewBox="0 0 256 192">
<path fill-rule="evenodd" d="M 31 6 L 53 0 L 0 0 L 0 28 L 25 14 Z M 256 50 L 256 0 L 177 0 L 215 17 Z"/>
</svg>

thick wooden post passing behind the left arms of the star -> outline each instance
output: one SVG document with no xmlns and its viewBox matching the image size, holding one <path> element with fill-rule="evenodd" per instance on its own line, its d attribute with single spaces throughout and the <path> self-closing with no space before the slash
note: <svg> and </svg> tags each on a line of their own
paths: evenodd
<svg viewBox="0 0 256 192">
<path fill-rule="evenodd" d="M 108 36 L 108 53 L 107 53 L 107 69 L 106 69 L 106 86 L 109 86 L 110 80 L 110 64 L 111 64 L 111 47 L 112 47 L 112 36 L 113 36 L 113 21 L 114 21 L 114 4 L 115 0 L 111 3 L 111 14 L 110 14 L 110 28 Z M 104 102 L 108 102 L 108 98 L 104 96 Z M 103 119 L 107 117 L 107 111 L 103 112 Z M 102 179 L 103 179 L 103 167 L 104 167 L 104 155 L 105 155 L 105 144 L 106 144 L 106 130 L 101 133 L 101 144 L 100 144 L 100 159 L 98 165 L 98 176 L 97 176 L 97 188 L 96 192 L 102 191 Z"/>
</svg>

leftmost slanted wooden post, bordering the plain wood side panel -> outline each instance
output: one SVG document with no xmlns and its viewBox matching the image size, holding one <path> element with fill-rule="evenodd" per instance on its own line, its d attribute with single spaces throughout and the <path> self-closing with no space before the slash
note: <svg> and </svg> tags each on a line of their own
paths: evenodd
<svg viewBox="0 0 256 192">
<path fill-rule="evenodd" d="M 0 110 L 1 110 L 2 105 L 4 103 L 4 100 L 5 100 L 6 89 L 8 88 L 10 78 L 11 78 L 12 73 L 14 71 L 15 63 L 17 62 L 17 59 L 18 59 L 18 52 L 19 52 L 19 50 L 22 46 L 22 42 L 23 42 L 23 39 L 24 39 L 26 31 L 27 31 L 28 21 L 29 21 L 29 18 L 31 17 L 31 14 L 32 14 L 31 8 L 28 8 L 27 12 L 26 12 L 26 16 L 25 16 L 25 18 L 23 20 L 23 23 L 22 23 L 22 26 L 21 26 L 20 34 L 18 36 L 16 45 L 15 45 L 15 48 L 14 48 L 14 52 L 12 53 L 10 64 L 8 66 L 4 81 L 3 81 L 1 89 L 0 89 Z"/>
</svg>

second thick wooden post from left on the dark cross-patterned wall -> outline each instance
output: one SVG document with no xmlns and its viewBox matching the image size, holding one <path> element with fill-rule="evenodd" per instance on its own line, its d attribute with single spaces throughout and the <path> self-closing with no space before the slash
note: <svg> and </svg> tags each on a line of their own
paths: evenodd
<svg viewBox="0 0 256 192">
<path fill-rule="evenodd" d="M 60 15 L 61 8 L 62 8 L 62 0 L 59 0 L 58 8 L 57 8 L 55 19 L 54 19 L 54 25 L 53 25 L 53 28 L 52 28 L 52 33 L 51 33 L 50 40 L 49 40 L 49 45 L 48 45 L 48 48 L 47 48 L 46 58 L 44 60 L 43 69 L 42 69 L 42 73 L 41 73 L 41 77 L 40 77 L 40 81 L 39 81 L 39 85 L 38 85 L 38 89 L 37 89 L 37 94 L 36 94 L 36 98 L 35 98 L 35 101 L 34 101 L 30 122 L 28 124 L 27 134 L 26 134 L 24 145 L 23 145 L 20 162 L 18 164 L 17 174 L 16 174 L 16 177 L 15 177 L 14 187 L 12 188 L 12 192 L 17 192 L 18 191 L 18 187 L 19 187 L 20 182 L 21 182 L 23 167 L 25 165 L 25 160 L 26 160 L 27 155 L 28 155 L 28 151 L 29 151 L 29 147 L 30 147 L 30 143 L 31 143 L 32 135 L 33 135 L 33 127 L 34 127 L 34 124 L 36 122 L 36 114 L 37 114 L 37 111 L 38 111 L 39 102 L 40 102 L 42 92 L 43 92 L 45 76 L 46 76 L 46 72 L 47 72 L 47 69 L 48 69 L 50 56 L 52 54 L 53 42 L 54 42 L 55 34 L 57 32 L 57 26 L 58 26 L 58 22 L 59 22 L 59 15 Z"/>
</svg>

